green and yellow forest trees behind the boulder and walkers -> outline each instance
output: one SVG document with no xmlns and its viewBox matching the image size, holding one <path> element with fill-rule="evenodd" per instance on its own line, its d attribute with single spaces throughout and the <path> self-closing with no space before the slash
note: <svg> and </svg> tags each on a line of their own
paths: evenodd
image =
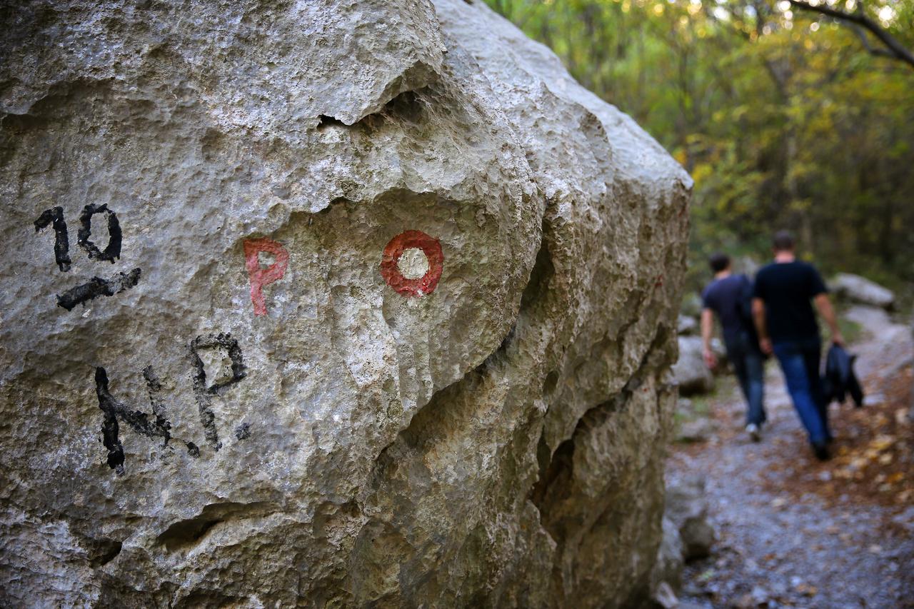
<svg viewBox="0 0 914 609">
<path fill-rule="evenodd" d="M 687 289 L 786 228 L 914 298 L 914 0 L 486 2 L 695 178 Z"/>
</svg>

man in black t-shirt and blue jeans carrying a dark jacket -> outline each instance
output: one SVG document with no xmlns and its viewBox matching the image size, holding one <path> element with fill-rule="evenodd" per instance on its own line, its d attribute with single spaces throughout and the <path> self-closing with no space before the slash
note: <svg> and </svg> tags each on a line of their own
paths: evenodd
<svg viewBox="0 0 914 609">
<path fill-rule="evenodd" d="M 774 262 L 756 275 L 752 314 L 761 350 L 778 358 L 793 407 L 822 460 L 829 456 L 832 434 L 819 376 L 822 340 L 811 302 L 828 324 L 832 342 L 844 344 L 827 292 L 815 267 L 796 259 L 791 233 L 774 235 Z"/>
</svg>

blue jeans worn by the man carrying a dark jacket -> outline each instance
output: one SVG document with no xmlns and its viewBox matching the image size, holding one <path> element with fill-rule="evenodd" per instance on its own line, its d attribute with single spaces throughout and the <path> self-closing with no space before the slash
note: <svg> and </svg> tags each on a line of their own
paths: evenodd
<svg viewBox="0 0 914 609">
<path fill-rule="evenodd" d="M 774 343 L 774 355 L 781 363 L 784 382 L 791 394 L 793 408 L 800 415 L 811 443 L 824 443 L 828 431 L 828 414 L 819 376 L 822 343 L 819 337 Z"/>
</svg>

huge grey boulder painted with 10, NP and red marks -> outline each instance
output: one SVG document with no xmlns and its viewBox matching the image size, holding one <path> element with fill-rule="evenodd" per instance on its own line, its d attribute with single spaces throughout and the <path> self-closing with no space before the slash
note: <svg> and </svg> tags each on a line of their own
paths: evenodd
<svg viewBox="0 0 914 609">
<path fill-rule="evenodd" d="M 618 606 L 688 176 L 480 2 L 21 2 L 5 606 Z"/>
</svg>

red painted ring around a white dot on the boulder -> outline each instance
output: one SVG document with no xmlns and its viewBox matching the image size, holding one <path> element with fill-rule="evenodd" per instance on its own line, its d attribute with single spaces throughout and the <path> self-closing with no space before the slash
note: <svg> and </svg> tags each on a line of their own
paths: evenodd
<svg viewBox="0 0 914 609">
<path fill-rule="evenodd" d="M 418 261 L 411 250 L 421 250 L 425 254 L 428 270 L 418 277 L 403 274 L 400 259 L 404 252 L 409 257 L 410 269 L 424 269 L 423 261 Z M 404 230 L 399 235 L 388 241 L 381 254 L 381 276 L 397 294 L 408 297 L 420 297 L 431 294 L 441 279 L 441 270 L 444 263 L 444 254 L 441 252 L 441 242 L 421 230 Z M 408 275 L 411 274 L 408 272 Z"/>
</svg>

